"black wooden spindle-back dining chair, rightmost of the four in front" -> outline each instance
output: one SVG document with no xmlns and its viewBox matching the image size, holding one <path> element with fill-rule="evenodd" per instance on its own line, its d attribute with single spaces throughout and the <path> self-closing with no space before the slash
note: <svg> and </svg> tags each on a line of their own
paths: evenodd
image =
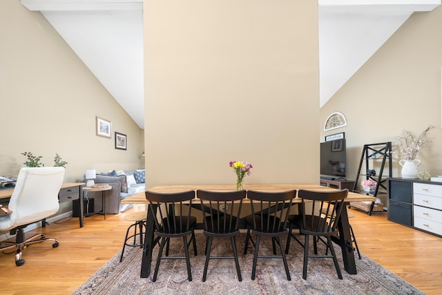
<svg viewBox="0 0 442 295">
<path fill-rule="evenodd" d="M 333 258 L 338 278 L 342 280 L 338 260 L 334 251 L 332 236 L 337 236 L 340 213 L 345 206 L 348 189 L 336 191 L 309 191 L 300 189 L 298 197 L 301 198 L 300 216 L 292 216 L 291 220 L 299 227 L 301 235 L 305 236 L 304 263 L 302 278 L 307 279 L 308 258 Z M 309 254 L 309 237 L 313 237 L 314 254 Z M 318 254 L 317 240 L 323 237 L 327 240 L 325 255 Z M 290 236 L 289 236 L 290 238 Z M 327 254 L 327 249 L 330 254 Z"/>
</svg>

